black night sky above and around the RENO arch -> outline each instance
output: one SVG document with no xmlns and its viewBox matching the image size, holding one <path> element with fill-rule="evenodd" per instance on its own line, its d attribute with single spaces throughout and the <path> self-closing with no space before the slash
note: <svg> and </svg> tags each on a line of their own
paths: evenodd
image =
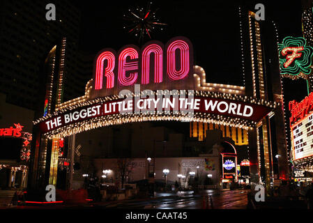
<svg viewBox="0 0 313 223">
<path fill-rule="evenodd" d="M 80 48 L 87 54 L 111 47 L 118 51 L 123 45 L 138 45 L 137 39 L 123 26 L 128 9 L 146 8 L 148 1 L 84 1 Z M 264 3 L 266 20 L 273 20 L 284 36 L 302 36 L 301 1 L 152 1 L 152 9 L 160 22 L 168 24 L 163 31 L 152 34 L 162 43 L 175 36 L 185 36 L 194 47 L 194 64 L 206 70 L 207 82 L 242 84 L 238 6 L 254 8 Z M 148 39 L 146 39 L 147 42 Z M 230 57 L 231 56 L 231 57 Z M 303 89 L 303 84 L 299 84 Z M 301 92 L 301 91 L 300 91 Z M 302 93 L 300 93 L 302 97 Z"/>
</svg>

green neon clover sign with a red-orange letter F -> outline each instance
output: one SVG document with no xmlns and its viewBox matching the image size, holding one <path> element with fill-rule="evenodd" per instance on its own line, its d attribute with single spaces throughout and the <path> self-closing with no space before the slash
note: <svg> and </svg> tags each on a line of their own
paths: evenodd
<svg viewBox="0 0 313 223">
<path fill-rule="evenodd" d="M 278 44 L 278 51 L 280 73 L 284 77 L 307 79 L 312 72 L 313 48 L 307 45 L 305 38 L 288 36 Z"/>
</svg>

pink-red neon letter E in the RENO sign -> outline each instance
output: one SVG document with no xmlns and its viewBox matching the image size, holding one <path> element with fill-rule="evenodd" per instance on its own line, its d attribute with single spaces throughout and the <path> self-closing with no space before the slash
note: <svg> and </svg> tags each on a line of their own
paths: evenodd
<svg viewBox="0 0 313 223">
<path fill-rule="evenodd" d="M 134 48 L 123 49 L 119 55 L 119 83 L 123 86 L 130 86 L 135 84 L 138 77 L 138 61 L 127 62 L 126 59 L 131 60 L 138 59 L 138 52 Z M 126 72 L 130 72 L 126 77 Z"/>
</svg>

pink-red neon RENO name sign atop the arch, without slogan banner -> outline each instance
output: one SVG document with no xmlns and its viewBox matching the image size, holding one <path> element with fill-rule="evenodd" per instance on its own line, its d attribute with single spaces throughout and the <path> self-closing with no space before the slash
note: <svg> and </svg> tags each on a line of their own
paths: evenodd
<svg viewBox="0 0 313 223">
<path fill-rule="evenodd" d="M 194 89 L 192 71 L 192 44 L 185 37 L 172 38 L 166 45 L 151 41 L 142 49 L 127 45 L 117 54 L 114 49 L 106 48 L 94 61 L 93 93 L 95 97 L 114 95 L 122 89 L 131 90 L 134 84 L 151 90 L 191 90 Z"/>
</svg>

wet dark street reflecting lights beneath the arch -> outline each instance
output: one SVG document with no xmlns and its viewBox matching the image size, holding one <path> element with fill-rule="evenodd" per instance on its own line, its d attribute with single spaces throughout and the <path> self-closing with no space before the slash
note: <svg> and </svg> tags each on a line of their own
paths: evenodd
<svg viewBox="0 0 313 223">
<path fill-rule="evenodd" d="M 246 209 L 249 190 L 204 190 L 196 194 L 156 193 L 151 199 L 102 201 L 88 204 L 54 206 L 17 206 L 13 208 L 105 208 L 105 209 Z"/>
</svg>

